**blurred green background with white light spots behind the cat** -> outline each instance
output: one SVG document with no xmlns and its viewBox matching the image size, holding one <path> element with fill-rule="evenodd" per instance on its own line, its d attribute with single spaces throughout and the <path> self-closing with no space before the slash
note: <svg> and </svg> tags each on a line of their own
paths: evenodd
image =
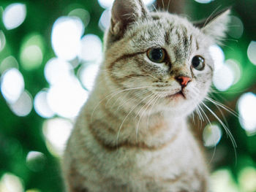
<svg viewBox="0 0 256 192">
<path fill-rule="evenodd" d="M 213 191 L 255 192 L 256 1 L 143 1 L 189 20 L 233 6 L 227 39 L 210 49 L 211 98 L 228 109 L 206 102 L 218 118 L 202 106 L 211 123 L 200 112 L 192 125 L 212 164 Z M 61 153 L 102 61 L 112 3 L 0 0 L 0 192 L 63 191 Z"/>
</svg>

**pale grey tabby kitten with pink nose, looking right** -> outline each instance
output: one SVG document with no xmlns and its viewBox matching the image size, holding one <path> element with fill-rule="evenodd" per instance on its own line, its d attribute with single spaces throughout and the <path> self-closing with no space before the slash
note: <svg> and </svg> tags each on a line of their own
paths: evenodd
<svg viewBox="0 0 256 192">
<path fill-rule="evenodd" d="M 225 37 L 230 9 L 191 23 L 116 0 L 111 14 L 104 61 L 64 152 L 67 191 L 210 191 L 187 118 L 208 94 L 208 48 Z"/>
</svg>

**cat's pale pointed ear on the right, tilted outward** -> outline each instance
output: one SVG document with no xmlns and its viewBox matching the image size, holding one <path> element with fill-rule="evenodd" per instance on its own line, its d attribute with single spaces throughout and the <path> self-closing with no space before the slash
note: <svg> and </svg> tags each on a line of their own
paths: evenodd
<svg viewBox="0 0 256 192">
<path fill-rule="evenodd" d="M 213 37 L 217 43 L 226 36 L 227 24 L 230 21 L 230 7 L 218 12 L 215 15 L 211 15 L 208 19 L 199 23 L 194 23 L 195 26 L 201 28 L 204 34 Z"/>
</svg>

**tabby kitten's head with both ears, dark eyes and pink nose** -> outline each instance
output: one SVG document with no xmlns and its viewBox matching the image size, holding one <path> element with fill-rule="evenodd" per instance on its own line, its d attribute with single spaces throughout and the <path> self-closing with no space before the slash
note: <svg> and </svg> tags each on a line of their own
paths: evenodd
<svg viewBox="0 0 256 192">
<path fill-rule="evenodd" d="M 229 12 L 193 24 L 149 12 L 141 0 L 116 0 L 105 36 L 105 70 L 138 101 L 187 115 L 208 93 L 214 72 L 208 48 L 225 37 Z"/>
</svg>

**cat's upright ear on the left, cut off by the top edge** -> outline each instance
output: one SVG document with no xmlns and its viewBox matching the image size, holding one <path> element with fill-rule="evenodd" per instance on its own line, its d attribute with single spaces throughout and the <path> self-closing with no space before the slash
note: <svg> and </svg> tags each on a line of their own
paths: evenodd
<svg viewBox="0 0 256 192">
<path fill-rule="evenodd" d="M 147 15 L 148 9 L 142 0 L 115 0 L 111 11 L 110 32 L 121 36 L 131 23 Z"/>
</svg>

